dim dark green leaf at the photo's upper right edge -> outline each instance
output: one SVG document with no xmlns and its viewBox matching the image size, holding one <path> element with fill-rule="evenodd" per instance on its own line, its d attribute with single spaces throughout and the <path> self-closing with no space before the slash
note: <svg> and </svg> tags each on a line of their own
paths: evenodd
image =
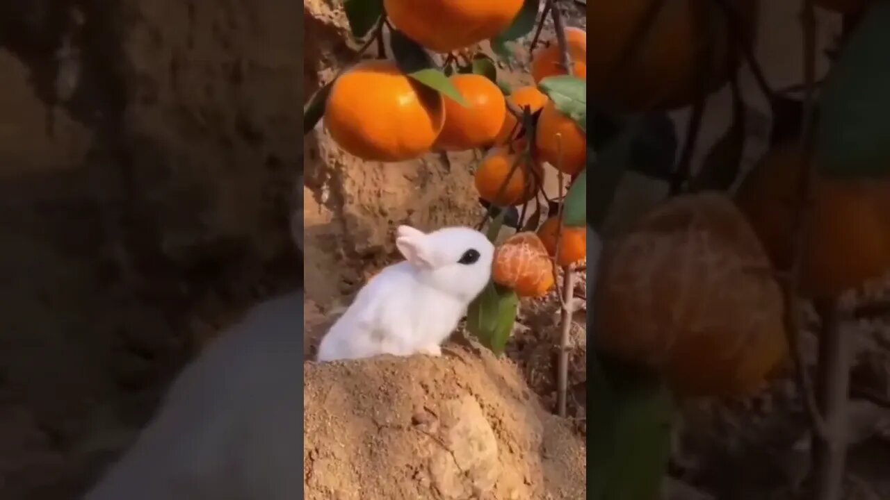
<svg viewBox="0 0 890 500">
<path fill-rule="evenodd" d="M 821 93 L 816 155 L 822 173 L 890 174 L 890 2 L 871 2 Z"/>
</svg>

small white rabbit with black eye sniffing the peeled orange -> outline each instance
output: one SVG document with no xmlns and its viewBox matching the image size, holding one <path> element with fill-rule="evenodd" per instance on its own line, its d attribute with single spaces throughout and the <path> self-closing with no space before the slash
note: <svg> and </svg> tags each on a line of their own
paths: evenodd
<svg viewBox="0 0 890 500">
<path fill-rule="evenodd" d="M 405 260 L 384 268 L 321 339 L 318 359 L 441 355 L 441 343 L 488 284 L 494 246 L 464 227 L 396 231 Z"/>
</svg>

